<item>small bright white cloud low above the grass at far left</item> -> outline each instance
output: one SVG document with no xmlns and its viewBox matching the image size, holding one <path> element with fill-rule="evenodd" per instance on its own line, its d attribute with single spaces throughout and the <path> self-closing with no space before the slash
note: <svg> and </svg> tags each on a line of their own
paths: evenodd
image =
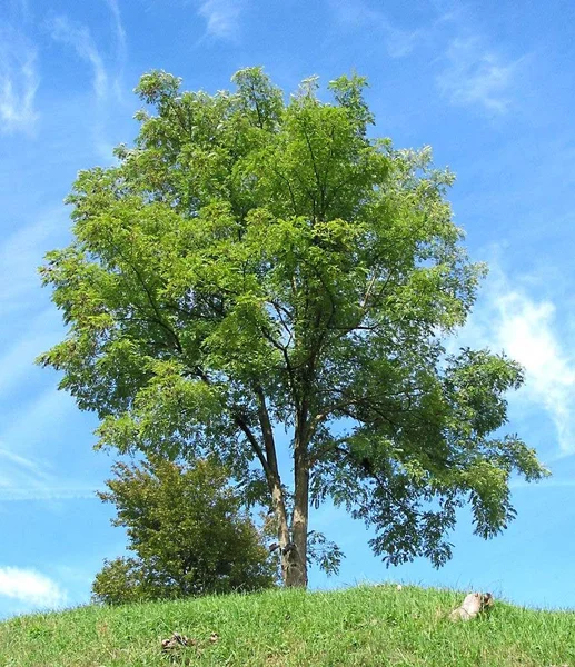
<svg viewBox="0 0 575 667">
<path fill-rule="evenodd" d="M 67 598 L 58 584 L 46 575 L 19 567 L 0 567 L 0 596 L 40 608 L 60 607 Z"/>
</svg>

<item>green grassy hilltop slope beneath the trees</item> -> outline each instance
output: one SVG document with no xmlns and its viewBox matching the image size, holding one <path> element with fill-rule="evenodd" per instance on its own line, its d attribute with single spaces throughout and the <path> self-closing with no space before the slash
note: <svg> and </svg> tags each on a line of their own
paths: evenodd
<svg viewBox="0 0 575 667">
<path fill-rule="evenodd" d="M 575 613 L 496 601 L 483 618 L 452 623 L 463 597 L 386 585 L 21 616 L 0 624 L 0 667 L 575 667 Z M 163 655 L 174 631 L 197 645 Z"/>
</svg>

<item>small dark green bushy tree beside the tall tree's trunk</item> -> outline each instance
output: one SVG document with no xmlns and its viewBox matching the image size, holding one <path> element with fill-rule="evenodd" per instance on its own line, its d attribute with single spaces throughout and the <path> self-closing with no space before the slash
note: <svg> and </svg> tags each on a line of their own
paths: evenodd
<svg viewBox="0 0 575 667">
<path fill-rule="evenodd" d="M 92 585 L 108 604 L 209 593 L 255 590 L 275 583 L 275 566 L 226 471 L 208 460 L 195 466 L 155 459 L 116 464 L 109 491 L 129 548 L 138 558 L 106 561 Z"/>
</svg>

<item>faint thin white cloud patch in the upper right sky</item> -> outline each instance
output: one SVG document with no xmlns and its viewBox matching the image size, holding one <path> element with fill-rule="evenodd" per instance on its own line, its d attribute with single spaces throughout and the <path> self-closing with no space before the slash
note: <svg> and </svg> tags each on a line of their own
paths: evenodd
<svg viewBox="0 0 575 667">
<path fill-rule="evenodd" d="M 484 48 L 477 37 L 453 39 L 446 60 L 436 81 L 453 104 L 480 107 L 494 115 L 509 109 L 509 93 L 521 60 L 505 61 L 494 50 Z"/>
</svg>

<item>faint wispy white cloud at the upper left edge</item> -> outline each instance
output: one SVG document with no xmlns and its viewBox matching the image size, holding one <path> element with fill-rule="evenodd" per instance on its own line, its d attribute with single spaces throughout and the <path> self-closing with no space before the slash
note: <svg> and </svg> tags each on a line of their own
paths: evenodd
<svg viewBox="0 0 575 667">
<path fill-rule="evenodd" d="M 37 52 L 13 29 L 0 30 L 0 131 L 33 133 L 39 113 Z"/>
</svg>

